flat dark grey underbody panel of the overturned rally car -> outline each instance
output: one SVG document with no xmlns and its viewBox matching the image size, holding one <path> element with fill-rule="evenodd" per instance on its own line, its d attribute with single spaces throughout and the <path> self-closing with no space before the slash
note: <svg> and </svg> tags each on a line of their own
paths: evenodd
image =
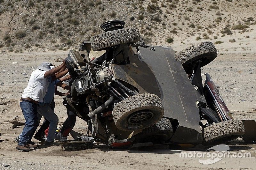
<svg viewBox="0 0 256 170">
<path fill-rule="evenodd" d="M 196 103 L 198 100 L 203 102 L 203 98 L 191 84 L 181 63 L 174 58 L 175 51 L 165 46 L 155 46 L 154 50 L 138 49 L 133 48 L 132 51 L 130 48 L 133 53 L 128 55 L 130 64 L 112 64 L 114 77 L 133 85 L 140 93 L 152 93 L 161 98 L 164 117 L 176 126 L 171 142 L 201 143 Z"/>
</svg>

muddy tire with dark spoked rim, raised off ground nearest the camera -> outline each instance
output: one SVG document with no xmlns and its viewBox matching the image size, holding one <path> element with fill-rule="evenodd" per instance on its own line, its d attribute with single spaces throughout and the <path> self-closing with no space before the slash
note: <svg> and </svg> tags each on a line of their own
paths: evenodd
<svg viewBox="0 0 256 170">
<path fill-rule="evenodd" d="M 118 129 L 134 131 L 158 122 L 164 115 L 164 107 L 155 94 L 137 94 L 117 103 L 112 114 Z"/>
</svg>

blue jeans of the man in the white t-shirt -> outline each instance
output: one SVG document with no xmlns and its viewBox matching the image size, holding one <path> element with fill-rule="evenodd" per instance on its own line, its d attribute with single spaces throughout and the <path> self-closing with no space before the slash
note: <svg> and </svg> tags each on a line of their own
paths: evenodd
<svg viewBox="0 0 256 170">
<path fill-rule="evenodd" d="M 37 104 L 22 101 L 20 102 L 20 108 L 26 122 L 20 136 L 19 145 L 26 145 L 32 139 L 37 128 Z"/>
</svg>

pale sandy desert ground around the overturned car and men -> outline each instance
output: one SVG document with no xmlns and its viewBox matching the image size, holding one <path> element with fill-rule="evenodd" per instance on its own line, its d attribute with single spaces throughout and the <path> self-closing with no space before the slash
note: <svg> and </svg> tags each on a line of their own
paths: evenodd
<svg viewBox="0 0 256 170">
<path fill-rule="evenodd" d="M 180 48 L 184 47 L 174 47 L 177 51 Z M 19 98 L 28 83 L 30 73 L 41 62 L 53 62 L 66 55 L 67 51 L 8 53 L 0 58 L 0 169 L 8 169 L 4 165 L 10 165 L 9 169 L 255 169 L 256 144 L 244 144 L 242 139 L 228 143 L 231 152 L 250 152 L 251 158 L 224 158 L 212 165 L 202 165 L 198 158 L 179 157 L 181 152 L 205 152 L 208 149 L 200 145 L 182 150 L 169 146 L 133 150 L 114 150 L 97 146 L 84 151 L 66 152 L 61 150 L 60 146 L 44 147 L 39 143 L 36 150 L 18 152 L 14 138 L 22 131 L 23 126 L 12 129 L 12 120 L 15 117 L 20 121 L 24 119 L 19 107 Z M 208 72 L 220 86 L 221 96 L 236 119 L 256 120 L 255 70 L 256 54 L 252 51 L 236 51 L 218 55 L 202 72 Z M 55 102 L 61 126 L 67 117 L 66 109 L 60 96 L 55 96 Z M 86 123 L 78 118 L 74 130 L 86 133 Z"/>
</svg>

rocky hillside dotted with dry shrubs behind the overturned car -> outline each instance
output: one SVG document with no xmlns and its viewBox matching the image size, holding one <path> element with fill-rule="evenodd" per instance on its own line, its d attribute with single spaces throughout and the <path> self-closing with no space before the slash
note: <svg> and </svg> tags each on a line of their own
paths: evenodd
<svg viewBox="0 0 256 170">
<path fill-rule="evenodd" d="M 138 27 L 153 45 L 218 44 L 224 36 L 232 43 L 252 31 L 255 7 L 254 0 L 0 0 L 0 50 L 77 48 L 111 19 Z"/>
</svg>

